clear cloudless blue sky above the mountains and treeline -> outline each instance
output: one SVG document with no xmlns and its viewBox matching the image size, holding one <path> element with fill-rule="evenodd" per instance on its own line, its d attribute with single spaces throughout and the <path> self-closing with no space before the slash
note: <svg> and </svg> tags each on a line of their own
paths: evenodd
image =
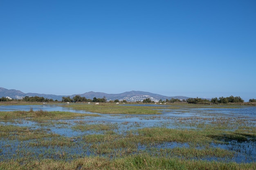
<svg viewBox="0 0 256 170">
<path fill-rule="evenodd" d="M 1 0 L 0 87 L 256 98 L 255 0 Z"/>
</svg>

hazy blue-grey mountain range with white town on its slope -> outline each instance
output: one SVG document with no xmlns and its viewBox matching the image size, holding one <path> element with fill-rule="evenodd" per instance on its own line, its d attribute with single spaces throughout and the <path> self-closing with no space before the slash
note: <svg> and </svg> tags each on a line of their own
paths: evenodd
<svg viewBox="0 0 256 170">
<path fill-rule="evenodd" d="M 58 100 L 61 101 L 62 97 L 70 97 L 73 98 L 76 95 L 80 95 L 81 97 L 85 97 L 86 99 L 93 99 L 94 97 L 96 98 L 103 98 L 106 97 L 107 100 L 123 100 L 125 99 L 128 102 L 136 102 L 136 101 L 143 101 L 146 98 L 150 98 L 152 101 L 158 102 L 160 99 L 165 100 L 165 99 L 188 99 L 190 97 L 185 97 L 185 96 L 173 96 L 173 97 L 168 97 L 164 95 L 158 95 L 154 93 L 149 93 L 149 92 L 144 92 L 144 91 L 129 91 L 129 92 L 124 92 L 120 94 L 108 94 L 108 93 L 101 93 L 101 92 L 86 92 L 83 94 L 75 94 L 75 95 L 46 95 L 46 94 L 39 94 L 39 93 L 23 93 L 22 91 L 19 90 L 8 90 L 6 88 L 0 87 L 0 97 L 11 97 L 12 99 L 22 99 L 22 97 L 25 96 L 38 96 L 38 97 L 44 97 L 48 99 L 53 99 L 53 100 Z"/>
</svg>

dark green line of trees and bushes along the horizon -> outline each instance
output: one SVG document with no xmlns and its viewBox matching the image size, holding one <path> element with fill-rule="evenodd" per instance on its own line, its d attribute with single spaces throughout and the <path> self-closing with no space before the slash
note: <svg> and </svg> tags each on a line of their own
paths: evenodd
<svg viewBox="0 0 256 170">
<path fill-rule="evenodd" d="M 107 98 L 103 97 L 103 98 L 96 98 L 94 97 L 93 99 L 86 99 L 85 97 L 81 97 L 80 95 L 76 95 L 73 98 L 70 97 L 62 97 L 61 101 L 58 100 L 53 100 L 53 99 L 48 99 L 48 98 L 44 98 L 44 97 L 38 97 L 38 96 L 25 96 L 22 99 L 11 99 L 9 97 L 2 97 L 0 98 L 0 102 L 10 102 L 10 101 L 22 101 L 22 102 L 107 102 Z M 121 100 L 119 101 L 119 99 L 115 99 L 114 101 L 110 100 L 109 102 L 123 102 L 123 103 L 127 103 L 126 100 Z M 141 101 L 137 101 L 137 102 L 141 102 Z M 142 101 L 143 103 L 153 103 L 154 101 L 152 101 L 150 98 L 146 98 Z M 211 100 L 208 99 L 201 99 L 201 98 L 189 98 L 189 99 L 166 99 L 166 100 L 162 100 L 160 99 L 159 102 L 170 102 L 170 103 L 174 103 L 174 102 L 187 102 L 189 104 L 198 104 L 198 103 L 213 103 L 213 104 L 228 104 L 228 103 L 243 103 L 244 100 L 240 97 L 240 96 L 229 96 L 229 97 L 215 97 L 212 98 Z M 256 102 L 256 99 L 249 99 L 249 102 Z"/>
</svg>

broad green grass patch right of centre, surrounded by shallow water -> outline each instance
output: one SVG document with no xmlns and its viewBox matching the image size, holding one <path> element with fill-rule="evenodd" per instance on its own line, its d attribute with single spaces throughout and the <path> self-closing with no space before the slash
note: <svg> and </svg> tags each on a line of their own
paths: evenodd
<svg viewBox="0 0 256 170">
<path fill-rule="evenodd" d="M 225 132 L 215 130 L 177 130 L 168 128 L 143 128 L 139 130 L 128 131 L 126 135 L 118 135 L 114 132 L 108 134 L 92 134 L 82 137 L 82 141 L 91 144 L 90 149 L 96 154 L 109 155 L 130 155 L 138 150 L 139 146 L 145 146 L 145 152 L 167 155 L 171 152 L 173 155 L 195 158 L 195 157 L 232 157 L 234 152 L 220 148 L 210 147 L 212 143 L 223 144 L 225 138 L 219 136 L 229 135 L 229 141 L 237 138 L 236 132 Z M 252 137 L 255 139 L 255 137 Z M 251 139 L 247 139 L 251 141 Z M 189 148 L 175 149 L 157 149 L 155 146 L 161 144 L 189 144 Z M 199 147 L 199 148 L 197 148 Z M 167 152 L 168 151 L 168 152 Z M 144 151 L 143 151 L 144 152 Z M 214 155 L 215 154 L 215 155 Z"/>
</svg>

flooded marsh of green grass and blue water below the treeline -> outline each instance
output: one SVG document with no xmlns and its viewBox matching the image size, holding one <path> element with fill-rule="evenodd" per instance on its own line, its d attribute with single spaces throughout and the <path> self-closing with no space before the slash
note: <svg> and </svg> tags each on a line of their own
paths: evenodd
<svg viewBox="0 0 256 170">
<path fill-rule="evenodd" d="M 254 107 L 65 106 L 1 111 L 0 169 L 256 168 Z"/>
</svg>

